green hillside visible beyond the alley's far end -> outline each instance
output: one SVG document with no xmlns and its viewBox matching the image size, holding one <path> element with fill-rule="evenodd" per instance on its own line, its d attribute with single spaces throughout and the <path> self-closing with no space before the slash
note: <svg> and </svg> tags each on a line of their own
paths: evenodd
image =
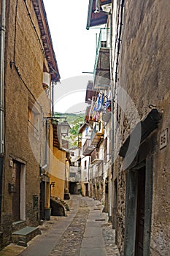
<svg viewBox="0 0 170 256">
<path fill-rule="evenodd" d="M 72 113 L 57 113 L 55 112 L 55 116 L 58 117 L 66 117 L 66 121 L 68 121 L 71 129 L 69 131 L 69 136 L 66 138 L 66 140 L 69 140 L 69 148 L 72 148 L 74 146 L 78 146 L 78 130 L 84 122 L 85 114 L 79 113 L 79 114 L 72 114 Z"/>
</svg>

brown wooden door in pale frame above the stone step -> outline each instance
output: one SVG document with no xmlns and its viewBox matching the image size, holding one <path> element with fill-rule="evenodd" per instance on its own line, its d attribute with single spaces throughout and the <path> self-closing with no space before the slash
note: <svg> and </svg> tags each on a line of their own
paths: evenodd
<svg viewBox="0 0 170 256">
<path fill-rule="evenodd" d="M 12 221 L 20 220 L 20 163 L 14 162 L 12 179 L 15 192 L 12 193 Z"/>
</svg>

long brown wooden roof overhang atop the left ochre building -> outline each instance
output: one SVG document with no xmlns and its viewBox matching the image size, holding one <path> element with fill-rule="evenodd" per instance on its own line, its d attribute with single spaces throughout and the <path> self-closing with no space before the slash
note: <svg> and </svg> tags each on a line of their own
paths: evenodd
<svg viewBox="0 0 170 256">
<path fill-rule="evenodd" d="M 50 34 L 50 29 L 47 22 L 47 15 L 45 12 L 45 6 L 43 0 L 32 0 L 36 18 L 39 23 L 39 29 L 41 33 L 42 46 L 45 52 L 45 58 L 50 69 L 51 80 L 58 82 L 60 80 L 60 74 L 58 71 L 58 64 L 55 58 L 55 52 L 53 49 L 53 42 Z"/>
</svg>

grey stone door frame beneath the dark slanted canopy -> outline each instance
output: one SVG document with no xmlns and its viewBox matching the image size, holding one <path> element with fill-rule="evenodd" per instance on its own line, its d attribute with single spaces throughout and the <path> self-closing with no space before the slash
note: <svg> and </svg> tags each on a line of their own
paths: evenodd
<svg viewBox="0 0 170 256">
<path fill-rule="evenodd" d="M 144 161 L 128 170 L 126 173 L 125 190 L 125 239 L 124 255 L 135 255 L 136 240 L 136 206 L 137 206 L 137 178 L 138 171 L 145 166 L 145 198 L 144 198 L 144 238 L 143 255 L 150 255 L 150 233 L 152 222 L 152 173 L 153 157 L 147 156 Z"/>
</svg>

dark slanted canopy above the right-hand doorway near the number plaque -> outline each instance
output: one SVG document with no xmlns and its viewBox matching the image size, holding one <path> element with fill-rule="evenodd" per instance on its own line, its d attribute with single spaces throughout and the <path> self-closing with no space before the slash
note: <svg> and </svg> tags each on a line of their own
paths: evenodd
<svg viewBox="0 0 170 256">
<path fill-rule="evenodd" d="M 131 152 L 129 154 L 133 154 L 133 151 L 136 151 L 136 144 L 140 140 L 140 143 L 142 143 L 143 140 L 147 138 L 150 133 L 158 127 L 158 122 L 161 120 L 161 114 L 158 112 L 157 109 L 152 109 L 150 113 L 138 124 L 136 124 L 136 127 L 134 127 L 133 131 L 131 132 L 131 135 L 128 135 L 128 138 L 123 143 L 123 146 L 121 146 L 119 155 L 120 157 L 125 157 L 125 154 L 128 151 L 128 146 L 130 143 L 131 136 L 133 137 L 133 146 L 131 147 Z M 138 129 L 141 128 L 141 137 L 139 138 L 139 132 Z"/>
</svg>

